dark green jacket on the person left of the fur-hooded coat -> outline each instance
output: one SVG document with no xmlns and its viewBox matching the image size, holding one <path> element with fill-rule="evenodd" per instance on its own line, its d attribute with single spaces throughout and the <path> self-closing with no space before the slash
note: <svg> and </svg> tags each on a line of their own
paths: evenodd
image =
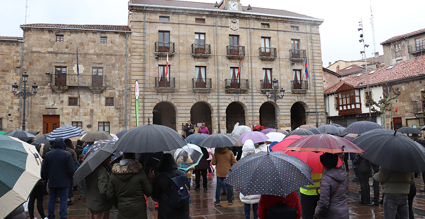
<svg viewBox="0 0 425 219">
<path fill-rule="evenodd" d="M 92 212 L 103 212 L 111 209 L 112 204 L 106 197 L 110 176 L 108 167 L 101 163 L 91 174 L 85 176 L 87 188 L 87 208 Z"/>
</svg>

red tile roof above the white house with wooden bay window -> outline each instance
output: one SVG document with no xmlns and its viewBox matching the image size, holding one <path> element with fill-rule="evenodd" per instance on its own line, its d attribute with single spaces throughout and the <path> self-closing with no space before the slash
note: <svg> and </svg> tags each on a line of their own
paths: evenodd
<svg viewBox="0 0 425 219">
<path fill-rule="evenodd" d="M 377 69 L 368 70 L 368 72 L 369 86 L 416 76 L 425 77 L 425 55 L 397 63 L 396 65 L 383 66 Z M 355 88 L 365 87 L 367 85 L 366 74 L 364 74 L 364 72 L 361 75 L 352 74 L 341 80 L 338 84 L 326 89 L 324 93 L 333 93 L 344 83 Z"/>
</svg>

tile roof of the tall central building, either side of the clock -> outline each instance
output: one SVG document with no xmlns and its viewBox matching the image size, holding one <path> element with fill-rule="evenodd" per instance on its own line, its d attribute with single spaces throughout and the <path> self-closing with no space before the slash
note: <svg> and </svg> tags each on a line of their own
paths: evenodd
<svg viewBox="0 0 425 219">
<path fill-rule="evenodd" d="M 200 9 L 217 9 L 214 7 L 215 3 L 203 3 L 195 1 L 179 1 L 179 0 L 130 0 L 130 4 L 144 4 L 144 5 L 158 5 L 158 6 L 171 6 L 171 7 L 186 7 L 186 8 L 200 8 Z M 248 6 L 242 6 L 243 11 L 247 11 Z M 295 12 L 252 7 L 253 13 L 288 16 L 297 18 L 316 19 L 310 16 L 298 14 Z"/>
</svg>

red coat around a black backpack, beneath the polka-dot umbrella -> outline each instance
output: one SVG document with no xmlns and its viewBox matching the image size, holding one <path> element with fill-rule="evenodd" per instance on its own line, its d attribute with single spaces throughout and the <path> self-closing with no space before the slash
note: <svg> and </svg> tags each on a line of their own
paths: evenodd
<svg viewBox="0 0 425 219">
<path fill-rule="evenodd" d="M 279 201 L 285 201 L 286 206 L 293 207 L 297 211 L 295 215 L 296 219 L 300 219 L 302 216 L 301 203 L 296 191 L 290 193 L 287 197 L 272 196 L 272 195 L 261 195 L 260 202 L 258 204 L 257 216 L 260 219 L 267 218 L 267 212 L 269 211 L 270 205 L 276 205 Z"/>
</svg>

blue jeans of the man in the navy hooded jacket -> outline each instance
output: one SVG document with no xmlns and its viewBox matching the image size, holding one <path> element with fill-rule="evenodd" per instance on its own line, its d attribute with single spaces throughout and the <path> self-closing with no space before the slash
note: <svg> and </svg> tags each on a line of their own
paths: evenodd
<svg viewBox="0 0 425 219">
<path fill-rule="evenodd" d="M 68 189 L 69 187 L 49 187 L 49 204 L 47 205 L 47 213 L 49 219 L 55 219 L 56 195 L 59 193 L 59 215 L 61 219 L 66 219 L 66 208 L 68 207 Z"/>
</svg>

